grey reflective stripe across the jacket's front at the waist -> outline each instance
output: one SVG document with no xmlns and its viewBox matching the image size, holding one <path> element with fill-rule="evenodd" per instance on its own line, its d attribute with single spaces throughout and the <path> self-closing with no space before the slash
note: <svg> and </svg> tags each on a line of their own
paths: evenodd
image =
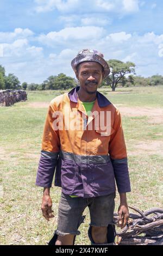
<svg viewBox="0 0 163 256">
<path fill-rule="evenodd" d="M 78 164 L 100 164 L 108 163 L 110 161 L 109 155 L 75 155 L 73 153 L 61 151 L 62 158 L 65 160 L 72 160 Z"/>
</svg>

